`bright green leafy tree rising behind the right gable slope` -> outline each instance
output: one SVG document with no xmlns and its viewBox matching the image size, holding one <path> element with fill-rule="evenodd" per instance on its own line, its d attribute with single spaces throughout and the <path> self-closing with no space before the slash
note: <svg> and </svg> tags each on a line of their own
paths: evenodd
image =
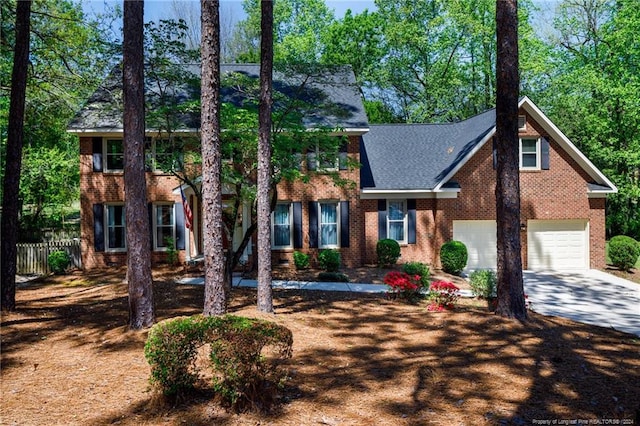
<svg viewBox="0 0 640 426">
<path fill-rule="evenodd" d="M 607 200 L 607 235 L 640 238 L 640 74 L 637 3 L 565 1 L 549 40 L 554 70 L 545 110 L 619 189 Z"/>
</svg>

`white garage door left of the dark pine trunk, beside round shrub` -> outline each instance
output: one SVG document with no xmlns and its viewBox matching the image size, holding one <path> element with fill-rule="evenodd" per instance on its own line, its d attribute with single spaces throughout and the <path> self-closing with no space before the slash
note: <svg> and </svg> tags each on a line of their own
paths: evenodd
<svg viewBox="0 0 640 426">
<path fill-rule="evenodd" d="M 469 260 L 466 269 L 496 268 L 498 257 L 495 220 L 454 220 L 453 239 L 462 241 L 467 246 Z"/>
</svg>

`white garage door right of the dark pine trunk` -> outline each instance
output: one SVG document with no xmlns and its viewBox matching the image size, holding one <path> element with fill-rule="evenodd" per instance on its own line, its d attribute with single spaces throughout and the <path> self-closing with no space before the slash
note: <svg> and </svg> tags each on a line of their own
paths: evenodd
<svg viewBox="0 0 640 426">
<path fill-rule="evenodd" d="M 589 231 L 586 220 L 530 220 L 527 225 L 528 268 L 587 269 Z"/>
</svg>

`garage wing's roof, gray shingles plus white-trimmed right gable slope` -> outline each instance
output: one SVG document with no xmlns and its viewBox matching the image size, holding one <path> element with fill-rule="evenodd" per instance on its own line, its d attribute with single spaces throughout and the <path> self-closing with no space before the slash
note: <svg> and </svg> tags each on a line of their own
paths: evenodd
<svg viewBox="0 0 640 426">
<path fill-rule="evenodd" d="M 528 97 L 520 100 L 519 107 L 593 179 L 596 186 L 588 187 L 590 193 L 617 192 L 615 185 Z M 450 191 L 453 176 L 495 134 L 495 117 L 495 109 L 491 109 L 457 123 L 371 126 L 363 136 L 361 149 L 363 193 Z"/>
</svg>

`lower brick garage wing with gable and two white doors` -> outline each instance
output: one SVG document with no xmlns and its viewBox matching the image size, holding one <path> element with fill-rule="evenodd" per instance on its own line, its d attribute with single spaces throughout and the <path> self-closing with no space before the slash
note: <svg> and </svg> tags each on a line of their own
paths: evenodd
<svg viewBox="0 0 640 426">
<path fill-rule="evenodd" d="M 438 261 L 454 239 L 467 269 L 495 268 L 495 110 L 451 124 L 374 125 L 361 147 L 365 261 L 375 242 L 401 242 L 405 260 Z M 534 103 L 519 103 L 523 267 L 605 265 L 605 201 L 616 187 Z"/>
</svg>

